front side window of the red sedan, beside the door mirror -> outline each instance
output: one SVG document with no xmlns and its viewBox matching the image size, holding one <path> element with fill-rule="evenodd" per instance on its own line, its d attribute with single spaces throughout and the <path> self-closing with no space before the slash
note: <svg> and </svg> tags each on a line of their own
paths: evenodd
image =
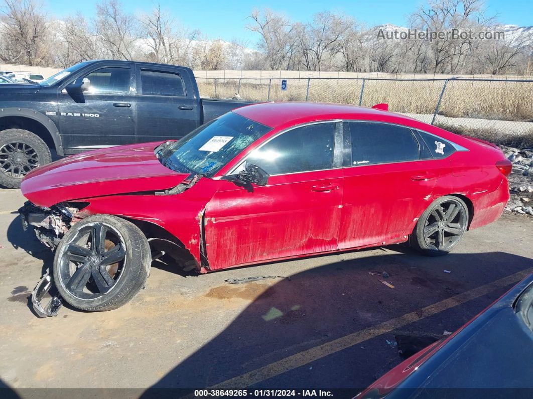
<svg viewBox="0 0 533 399">
<path fill-rule="evenodd" d="M 297 127 L 253 151 L 246 165 L 257 165 L 270 175 L 330 169 L 334 142 L 334 122 Z"/>
</svg>

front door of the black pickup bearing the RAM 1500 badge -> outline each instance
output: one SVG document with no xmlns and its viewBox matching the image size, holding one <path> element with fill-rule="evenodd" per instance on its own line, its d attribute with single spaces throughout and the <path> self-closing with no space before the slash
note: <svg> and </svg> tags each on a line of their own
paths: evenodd
<svg viewBox="0 0 533 399">
<path fill-rule="evenodd" d="M 135 143 L 134 74 L 128 63 L 113 65 L 83 75 L 91 88 L 76 99 L 65 89 L 58 93 L 59 131 L 67 152 Z"/>
</svg>

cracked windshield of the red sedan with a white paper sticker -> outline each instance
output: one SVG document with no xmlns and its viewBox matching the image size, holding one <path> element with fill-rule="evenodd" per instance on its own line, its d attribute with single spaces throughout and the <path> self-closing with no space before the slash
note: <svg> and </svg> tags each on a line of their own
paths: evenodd
<svg viewBox="0 0 533 399">
<path fill-rule="evenodd" d="M 235 112 L 192 131 L 157 153 L 161 164 L 176 172 L 212 177 L 271 128 Z"/>
</svg>

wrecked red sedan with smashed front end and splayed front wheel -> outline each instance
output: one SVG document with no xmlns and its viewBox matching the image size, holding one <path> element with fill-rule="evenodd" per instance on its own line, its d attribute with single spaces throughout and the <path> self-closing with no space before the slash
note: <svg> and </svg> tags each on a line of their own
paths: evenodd
<svg viewBox="0 0 533 399">
<path fill-rule="evenodd" d="M 61 296 L 109 310 L 163 253 L 200 273 L 404 241 L 446 254 L 502 214 L 510 172 L 495 145 L 383 109 L 264 103 L 38 168 L 20 212 Z"/>
</svg>

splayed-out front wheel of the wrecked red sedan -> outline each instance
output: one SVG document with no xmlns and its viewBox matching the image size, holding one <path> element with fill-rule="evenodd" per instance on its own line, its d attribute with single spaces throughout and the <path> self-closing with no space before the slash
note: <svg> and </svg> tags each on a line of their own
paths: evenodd
<svg viewBox="0 0 533 399">
<path fill-rule="evenodd" d="M 108 311 L 144 286 L 151 264 L 148 240 L 133 223 L 93 215 L 76 223 L 56 249 L 53 275 L 59 294 L 85 311 Z"/>
</svg>

